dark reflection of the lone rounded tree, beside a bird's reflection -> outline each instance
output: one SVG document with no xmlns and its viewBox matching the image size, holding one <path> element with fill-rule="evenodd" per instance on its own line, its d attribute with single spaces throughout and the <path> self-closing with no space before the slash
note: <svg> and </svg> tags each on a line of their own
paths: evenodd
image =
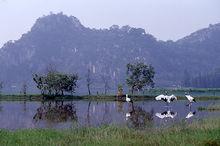
<svg viewBox="0 0 220 146">
<path fill-rule="evenodd" d="M 132 104 L 132 111 L 126 113 L 126 120 L 129 120 L 132 127 L 144 128 L 152 124 L 153 113 L 153 110 L 146 112 L 142 107 Z"/>
</svg>

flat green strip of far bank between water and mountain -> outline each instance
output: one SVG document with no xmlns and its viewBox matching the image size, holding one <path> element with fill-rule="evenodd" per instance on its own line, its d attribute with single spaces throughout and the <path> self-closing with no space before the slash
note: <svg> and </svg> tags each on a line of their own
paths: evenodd
<svg viewBox="0 0 220 146">
<path fill-rule="evenodd" d="M 132 96 L 134 100 L 145 100 L 145 99 L 154 99 L 155 96 L 160 94 L 174 94 L 178 97 L 178 99 L 186 99 L 185 92 L 191 94 L 196 97 L 197 100 L 209 100 L 209 99 L 220 99 L 220 88 L 154 88 L 148 89 L 139 93 L 135 93 Z M 24 95 L 0 95 L 0 100 L 33 100 L 39 101 L 42 100 L 43 96 L 38 94 L 28 94 Z M 83 99 L 83 100 L 116 100 L 116 95 L 108 94 L 108 95 L 65 95 L 59 97 L 46 97 L 44 99 L 64 99 L 64 100 L 72 100 L 72 99 Z"/>
</svg>

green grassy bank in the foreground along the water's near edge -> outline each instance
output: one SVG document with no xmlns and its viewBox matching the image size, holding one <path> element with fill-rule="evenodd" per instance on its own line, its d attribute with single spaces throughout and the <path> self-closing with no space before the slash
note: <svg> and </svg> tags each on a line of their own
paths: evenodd
<svg viewBox="0 0 220 146">
<path fill-rule="evenodd" d="M 220 119 L 181 124 L 162 130 L 105 126 L 72 130 L 1 131 L 0 145 L 220 145 Z"/>
</svg>

